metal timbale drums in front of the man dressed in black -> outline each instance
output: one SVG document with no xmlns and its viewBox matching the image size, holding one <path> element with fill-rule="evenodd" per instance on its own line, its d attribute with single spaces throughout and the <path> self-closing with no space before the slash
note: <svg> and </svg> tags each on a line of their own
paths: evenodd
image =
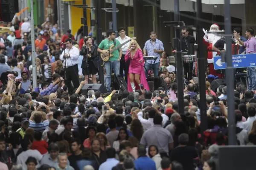
<svg viewBox="0 0 256 170">
<path fill-rule="evenodd" d="M 175 65 L 176 64 L 176 58 L 175 56 L 169 56 L 167 57 L 167 60 L 169 62 L 169 64 L 171 65 Z M 192 72 L 190 71 L 191 70 L 191 65 L 193 65 L 194 62 L 197 62 L 197 55 L 183 55 L 182 56 L 182 60 L 183 60 L 183 63 L 184 63 L 184 67 L 183 67 L 183 73 L 185 74 L 185 76 L 187 78 L 191 77 L 192 75 L 189 75 L 191 74 Z M 189 71 L 185 71 L 184 68 L 185 68 L 185 65 L 186 65 L 186 69 L 189 69 Z M 188 68 L 187 68 L 188 67 Z M 193 67 L 193 66 L 192 66 Z M 176 68 L 176 67 L 175 67 Z"/>
</svg>

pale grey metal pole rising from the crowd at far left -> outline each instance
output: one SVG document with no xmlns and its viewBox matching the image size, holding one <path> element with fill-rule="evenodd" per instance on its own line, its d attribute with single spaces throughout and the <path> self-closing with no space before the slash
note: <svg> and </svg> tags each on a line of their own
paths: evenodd
<svg viewBox="0 0 256 170">
<path fill-rule="evenodd" d="M 30 15 L 31 15 L 31 45 L 32 45 L 32 80 L 33 80 L 33 89 L 37 88 L 37 76 L 36 76 L 36 65 L 35 65 L 35 25 L 34 25 L 34 10 L 33 10 L 33 0 L 30 0 Z"/>
</svg>

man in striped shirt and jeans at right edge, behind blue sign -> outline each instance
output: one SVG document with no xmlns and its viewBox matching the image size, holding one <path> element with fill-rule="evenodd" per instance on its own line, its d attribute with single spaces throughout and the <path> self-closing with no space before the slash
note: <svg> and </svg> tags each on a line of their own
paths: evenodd
<svg viewBox="0 0 256 170">
<path fill-rule="evenodd" d="M 248 28 L 245 31 L 245 35 L 247 38 L 247 41 L 243 42 L 240 40 L 240 38 L 235 37 L 236 40 L 239 41 L 241 45 L 244 45 L 246 47 L 246 54 L 254 54 L 256 53 L 256 39 L 253 36 L 254 30 L 253 28 Z M 256 73 L 255 73 L 256 67 L 247 67 L 247 77 L 248 77 L 248 90 L 256 91 Z"/>
</svg>

